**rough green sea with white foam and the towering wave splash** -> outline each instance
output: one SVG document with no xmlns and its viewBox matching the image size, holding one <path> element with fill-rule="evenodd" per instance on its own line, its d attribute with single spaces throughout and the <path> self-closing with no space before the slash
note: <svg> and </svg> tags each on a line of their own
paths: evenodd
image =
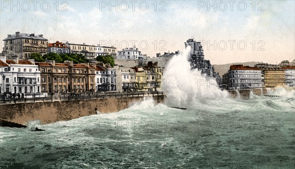
<svg viewBox="0 0 295 169">
<path fill-rule="evenodd" d="M 163 103 L 0 127 L 0 169 L 294 169 L 295 91 L 232 98 L 190 69 L 189 51 L 165 68 Z"/>
</svg>

